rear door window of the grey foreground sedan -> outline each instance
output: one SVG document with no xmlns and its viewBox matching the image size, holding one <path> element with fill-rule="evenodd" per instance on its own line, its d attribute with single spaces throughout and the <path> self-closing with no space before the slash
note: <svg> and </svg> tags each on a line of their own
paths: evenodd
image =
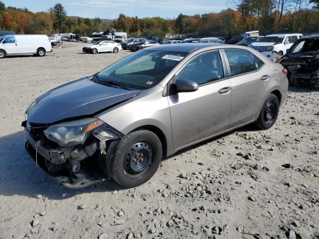
<svg viewBox="0 0 319 239">
<path fill-rule="evenodd" d="M 250 52 L 240 50 L 225 50 L 231 76 L 255 71 L 255 63 Z"/>
</svg>

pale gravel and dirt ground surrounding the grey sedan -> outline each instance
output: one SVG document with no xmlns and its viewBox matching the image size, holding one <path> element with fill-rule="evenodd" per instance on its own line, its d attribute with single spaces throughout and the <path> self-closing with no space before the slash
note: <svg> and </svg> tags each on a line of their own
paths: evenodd
<svg viewBox="0 0 319 239">
<path fill-rule="evenodd" d="M 82 46 L 0 60 L 0 239 L 319 239 L 318 89 L 290 88 L 270 130 L 246 126 L 183 150 L 138 188 L 75 191 L 44 174 L 23 148 L 26 107 L 130 54 Z"/>
</svg>

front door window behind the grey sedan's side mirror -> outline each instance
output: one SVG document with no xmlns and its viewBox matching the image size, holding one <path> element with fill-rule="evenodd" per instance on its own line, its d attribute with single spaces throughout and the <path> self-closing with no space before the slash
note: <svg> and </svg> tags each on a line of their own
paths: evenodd
<svg viewBox="0 0 319 239">
<path fill-rule="evenodd" d="M 224 78 L 223 66 L 218 51 L 201 54 L 177 74 L 176 80 L 191 80 L 198 85 Z"/>
</svg>

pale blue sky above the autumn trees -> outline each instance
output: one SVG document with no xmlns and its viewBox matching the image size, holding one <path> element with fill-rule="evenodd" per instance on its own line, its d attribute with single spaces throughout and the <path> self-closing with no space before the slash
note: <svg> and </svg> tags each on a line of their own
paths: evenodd
<svg viewBox="0 0 319 239">
<path fill-rule="evenodd" d="M 62 3 L 69 16 L 114 19 L 119 13 L 129 16 L 176 17 L 180 12 L 187 15 L 219 12 L 229 6 L 227 0 L 2 0 L 6 6 L 46 11 L 55 3 Z"/>
</svg>

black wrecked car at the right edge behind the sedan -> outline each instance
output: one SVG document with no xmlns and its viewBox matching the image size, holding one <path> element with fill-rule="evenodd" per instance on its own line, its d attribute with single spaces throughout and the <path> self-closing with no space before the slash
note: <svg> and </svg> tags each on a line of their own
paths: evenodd
<svg viewBox="0 0 319 239">
<path fill-rule="evenodd" d="M 319 86 L 319 34 L 308 35 L 295 42 L 281 64 L 287 69 L 291 84 Z"/>
</svg>

